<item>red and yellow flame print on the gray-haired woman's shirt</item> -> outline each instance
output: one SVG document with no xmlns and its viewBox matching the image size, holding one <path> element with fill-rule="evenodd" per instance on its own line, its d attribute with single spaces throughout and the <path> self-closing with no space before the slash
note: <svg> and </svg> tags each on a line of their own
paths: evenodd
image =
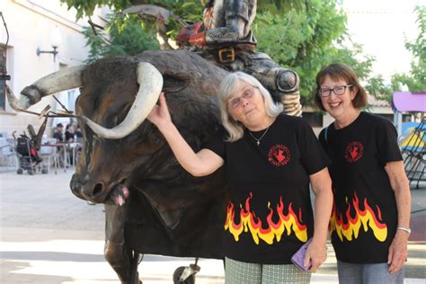
<svg viewBox="0 0 426 284">
<path fill-rule="evenodd" d="M 307 241 L 306 225 L 302 225 L 299 222 L 299 219 L 302 219 L 301 209 L 299 209 L 299 218 L 297 218 L 296 213 L 291 208 L 291 203 L 289 203 L 288 215 L 284 215 L 284 204 L 282 202 L 282 197 L 280 197 L 280 204 L 277 204 L 276 208 L 279 220 L 277 223 L 274 223 L 272 221 L 274 210 L 271 209 L 271 203 L 268 202 L 268 209 L 270 209 L 270 213 L 266 217 L 267 227 L 263 227 L 262 220 L 259 217 L 256 217 L 256 214 L 250 209 L 250 200 L 252 198 L 253 193 L 250 192 L 249 197 L 245 200 L 244 208 L 240 205 L 240 222 L 238 224 L 235 223 L 234 204 L 229 202 L 227 206 L 225 230 L 229 230 L 229 233 L 234 235 L 235 242 L 239 241 L 240 235 L 243 231 L 244 233 L 250 231 L 255 244 L 259 244 L 259 239 L 262 239 L 266 244 L 273 244 L 274 238 L 276 238 L 278 243 L 280 242 L 281 235 L 284 233 L 284 229 L 286 230 L 287 235 L 294 232 L 300 241 L 304 243 Z"/>
</svg>

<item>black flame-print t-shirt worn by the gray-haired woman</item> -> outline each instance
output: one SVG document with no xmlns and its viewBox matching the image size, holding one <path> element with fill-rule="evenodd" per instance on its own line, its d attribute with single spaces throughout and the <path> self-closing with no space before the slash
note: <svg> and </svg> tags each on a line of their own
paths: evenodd
<svg viewBox="0 0 426 284">
<path fill-rule="evenodd" d="M 265 130 L 252 132 L 261 138 Z M 233 143 L 214 138 L 205 148 L 224 158 L 231 200 L 226 209 L 226 256 L 241 262 L 290 264 L 313 235 L 309 174 L 330 160 L 305 120 L 280 115 L 257 145 L 246 129 Z"/>
</svg>

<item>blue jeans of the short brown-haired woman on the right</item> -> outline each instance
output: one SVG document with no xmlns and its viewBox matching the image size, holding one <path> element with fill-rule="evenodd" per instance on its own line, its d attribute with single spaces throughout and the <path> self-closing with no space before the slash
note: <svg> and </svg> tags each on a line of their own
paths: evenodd
<svg viewBox="0 0 426 284">
<path fill-rule="evenodd" d="M 342 284 L 403 284 L 404 267 L 389 273 L 387 263 L 348 263 L 337 261 L 337 274 Z"/>
</svg>

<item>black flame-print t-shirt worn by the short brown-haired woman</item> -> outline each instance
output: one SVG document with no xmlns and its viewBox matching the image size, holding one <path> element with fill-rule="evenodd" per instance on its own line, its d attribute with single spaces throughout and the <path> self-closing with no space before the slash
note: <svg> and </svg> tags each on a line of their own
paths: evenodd
<svg viewBox="0 0 426 284">
<path fill-rule="evenodd" d="M 385 165 L 402 160 L 394 125 L 360 112 L 343 129 L 335 129 L 333 124 L 323 129 L 319 139 L 332 159 L 334 204 L 329 231 L 337 259 L 387 262 L 397 210 Z"/>
</svg>

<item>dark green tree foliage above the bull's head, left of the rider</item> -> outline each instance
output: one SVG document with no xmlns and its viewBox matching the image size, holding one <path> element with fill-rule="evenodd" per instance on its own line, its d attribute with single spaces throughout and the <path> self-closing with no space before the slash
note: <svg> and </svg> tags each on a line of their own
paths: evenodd
<svg viewBox="0 0 426 284">
<path fill-rule="evenodd" d="M 113 12 L 120 12 L 134 4 L 161 4 L 166 10 L 182 16 L 186 22 L 199 21 L 203 8 L 199 0 L 165 0 L 161 3 L 146 0 L 60 1 L 66 3 L 68 9 L 75 8 L 77 19 L 87 16 L 90 22 L 94 9 L 102 5 L 109 6 Z M 135 55 L 146 49 L 159 49 L 157 36 L 173 38 L 182 29 L 182 21 L 179 22 L 173 17 L 163 22 L 163 19 L 149 15 L 111 13 L 109 21 L 103 31 L 98 31 L 99 26 L 94 29 L 95 24 L 92 24 L 93 29 L 84 28 L 84 36 L 90 47 L 87 61 L 91 62 L 104 56 Z M 167 43 L 164 46 L 167 47 Z"/>
</svg>

